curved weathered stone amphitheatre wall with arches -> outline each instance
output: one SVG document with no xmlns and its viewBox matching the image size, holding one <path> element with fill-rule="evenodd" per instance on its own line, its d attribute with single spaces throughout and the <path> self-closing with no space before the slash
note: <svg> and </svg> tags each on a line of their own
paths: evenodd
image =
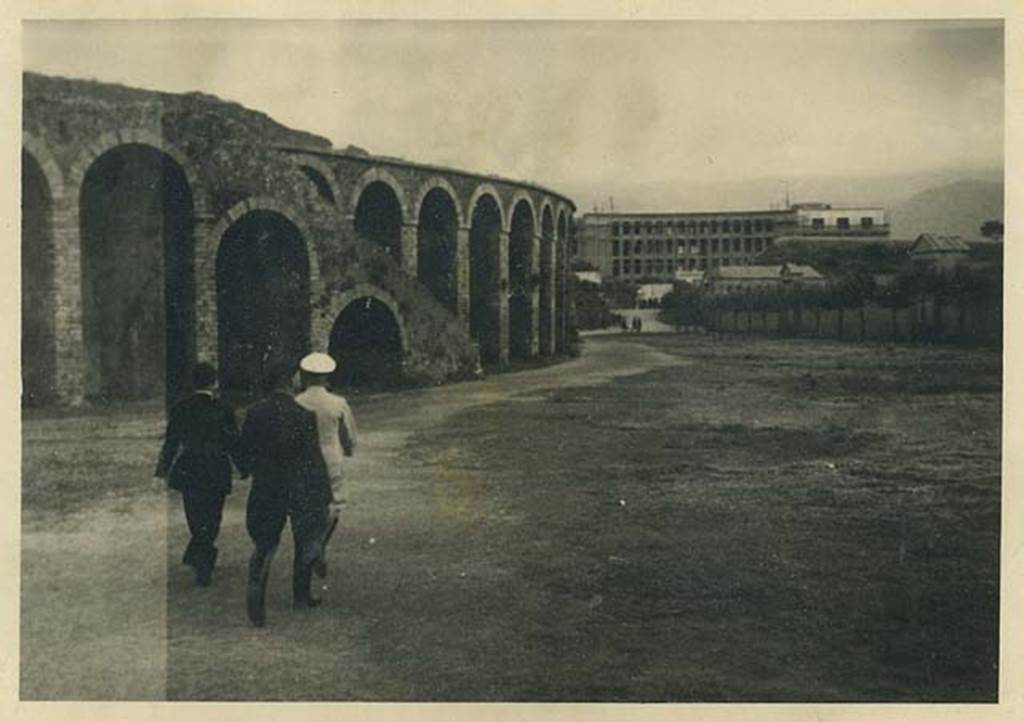
<svg viewBox="0 0 1024 722">
<path fill-rule="evenodd" d="M 24 98 L 28 404 L 170 399 L 198 358 L 249 388 L 311 348 L 352 383 L 565 350 L 563 196 L 198 93 L 27 74 Z"/>
</svg>

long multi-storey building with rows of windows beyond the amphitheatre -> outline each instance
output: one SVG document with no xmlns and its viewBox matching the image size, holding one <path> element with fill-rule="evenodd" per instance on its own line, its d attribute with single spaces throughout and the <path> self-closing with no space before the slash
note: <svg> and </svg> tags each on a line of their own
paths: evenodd
<svg viewBox="0 0 1024 722">
<path fill-rule="evenodd" d="M 889 232 L 885 211 L 799 204 L 787 210 L 702 213 L 586 213 L 575 257 L 604 279 L 672 281 L 681 271 L 749 265 L 780 237 Z"/>
</svg>

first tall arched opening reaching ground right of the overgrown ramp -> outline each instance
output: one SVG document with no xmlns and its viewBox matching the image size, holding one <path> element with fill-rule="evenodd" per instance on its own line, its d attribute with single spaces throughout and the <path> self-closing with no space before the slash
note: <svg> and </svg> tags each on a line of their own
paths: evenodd
<svg viewBox="0 0 1024 722">
<path fill-rule="evenodd" d="M 481 196 L 473 207 L 469 229 L 469 332 L 480 346 L 480 360 L 500 357 L 498 299 L 502 215 L 498 202 Z"/>
</svg>

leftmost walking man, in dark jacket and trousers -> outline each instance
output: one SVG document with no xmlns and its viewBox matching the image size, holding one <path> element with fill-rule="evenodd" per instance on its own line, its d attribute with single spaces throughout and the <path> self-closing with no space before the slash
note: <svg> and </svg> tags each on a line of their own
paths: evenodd
<svg viewBox="0 0 1024 722">
<path fill-rule="evenodd" d="M 181 561 L 196 571 L 196 584 L 210 584 L 217 561 L 217 535 L 224 497 L 231 492 L 231 459 L 239 427 L 234 412 L 214 393 L 217 370 L 209 364 L 193 369 L 195 391 L 169 414 L 167 434 L 157 463 L 157 476 L 181 493 L 191 539 Z"/>
</svg>

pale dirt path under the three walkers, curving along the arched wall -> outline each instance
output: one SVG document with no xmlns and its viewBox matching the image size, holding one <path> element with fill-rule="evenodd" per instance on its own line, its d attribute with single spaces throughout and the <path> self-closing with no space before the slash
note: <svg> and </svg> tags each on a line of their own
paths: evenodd
<svg viewBox="0 0 1024 722">
<path fill-rule="evenodd" d="M 458 594 L 451 585 L 473 571 L 465 568 L 466 550 L 451 549 L 451 558 L 436 559 L 437 540 L 458 545 L 460 533 L 482 513 L 478 480 L 460 460 L 445 457 L 455 452 L 432 450 L 431 473 L 450 469 L 451 478 L 425 480 L 423 467 L 402 454 L 410 436 L 471 407 L 528 402 L 544 389 L 593 386 L 679 364 L 677 356 L 605 339 L 556 367 L 356 401 L 360 449 L 348 467 L 350 508 L 334 545 L 338 562 L 322 590 L 325 605 L 311 613 L 290 609 L 285 543 L 274 563 L 265 630 L 251 629 L 243 609 L 250 551 L 246 484 L 228 499 L 220 566 L 205 590 L 193 587 L 179 564 L 185 532 L 176 495 L 129 493 L 62 514 L 27 509 L 22 697 L 410 698 L 407 683 L 392 679 L 380 668 L 380 655 L 367 648 L 364 628 L 381 604 L 415 603 L 424 584 L 436 582 L 443 594 Z M 127 444 L 133 483 L 145 489 L 160 415 L 116 418 L 101 428 L 81 421 L 27 422 L 26 455 L 50 454 L 56 466 L 67 467 L 61 454 L 88 459 L 97 439 Z M 54 451 L 54 438 L 66 445 Z"/>
</svg>

